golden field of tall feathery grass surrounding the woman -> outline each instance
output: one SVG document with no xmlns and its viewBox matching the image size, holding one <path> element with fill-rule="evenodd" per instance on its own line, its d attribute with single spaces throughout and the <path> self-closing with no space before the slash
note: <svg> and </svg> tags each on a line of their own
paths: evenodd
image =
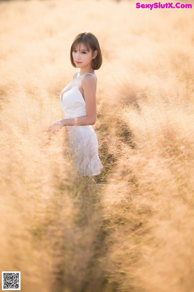
<svg viewBox="0 0 194 292">
<path fill-rule="evenodd" d="M 194 291 L 193 25 L 124 0 L 0 2 L 0 266 L 22 292 Z M 45 134 L 84 30 L 103 54 L 97 183 L 115 187 Z"/>
</svg>

